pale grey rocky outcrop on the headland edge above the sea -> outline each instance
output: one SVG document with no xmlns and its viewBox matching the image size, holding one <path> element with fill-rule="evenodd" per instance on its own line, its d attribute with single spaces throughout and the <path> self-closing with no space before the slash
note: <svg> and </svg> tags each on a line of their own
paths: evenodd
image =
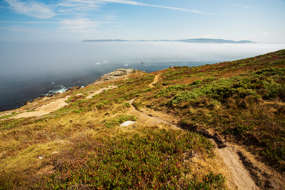
<svg viewBox="0 0 285 190">
<path fill-rule="evenodd" d="M 133 73 L 133 72 L 134 72 L 133 69 L 117 69 L 111 73 L 103 75 L 101 78 L 99 78 L 98 80 L 96 80 L 95 82 L 93 82 L 87 86 L 93 86 L 93 85 L 102 83 L 104 81 L 116 80 L 118 78 L 121 78 L 124 75 L 128 75 L 128 74 Z"/>
</svg>

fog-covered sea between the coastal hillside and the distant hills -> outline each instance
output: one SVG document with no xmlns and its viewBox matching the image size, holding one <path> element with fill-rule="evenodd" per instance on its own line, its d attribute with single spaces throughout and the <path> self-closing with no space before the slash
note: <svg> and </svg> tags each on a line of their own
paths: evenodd
<svg viewBox="0 0 285 190">
<path fill-rule="evenodd" d="M 85 86 L 119 68 L 146 72 L 249 58 L 285 44 L 185 42 L 0 43 L 0 110 L 40 95 Z M 144 64 L 139 64 L 144 62 Z"/>
</svg>

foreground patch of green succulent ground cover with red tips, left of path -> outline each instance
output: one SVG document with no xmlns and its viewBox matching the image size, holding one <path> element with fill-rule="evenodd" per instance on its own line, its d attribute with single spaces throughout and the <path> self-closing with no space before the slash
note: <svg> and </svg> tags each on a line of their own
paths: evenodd
<svg viewBox="0 0 285 190">
<path fill-rule="evenodd" d="M 61 172 L 42 176 L 45 182 L 36 188 L 68 189 L 88 187 L 95 189 L 223 189 L 221 174 L 208 173 L 203 182 L 186 179 L 191 173 L 185 164 L 185 152 L 205 152 L 214 156 L 213 145 L 205 137 L 187 131 L 142 129 L 126 138 L 97 137 L 100 146 L 94 153 L 81 155 L 85 167 L 65 163 Z M 65 174 L 63 174 L 66 172 Z"/>
</svg>

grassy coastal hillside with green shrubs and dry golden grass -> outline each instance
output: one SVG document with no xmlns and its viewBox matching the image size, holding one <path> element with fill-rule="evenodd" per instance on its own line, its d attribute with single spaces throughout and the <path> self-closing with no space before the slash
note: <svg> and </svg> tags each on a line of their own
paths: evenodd
<svg viewBox="0 0 285 190">
<path fill-rule="evenodd" d="M 284 189 L 284 67 L 279 50 L 136 71 L 25 105 L 0 117 L 0 189 L 237 189 L 217 153 L 225 144 L 260 189 Z M 12 117 L 63 98 L 52 113 Z M 137 123 L 119 127 L 127 120 Z"/>
</svg>

